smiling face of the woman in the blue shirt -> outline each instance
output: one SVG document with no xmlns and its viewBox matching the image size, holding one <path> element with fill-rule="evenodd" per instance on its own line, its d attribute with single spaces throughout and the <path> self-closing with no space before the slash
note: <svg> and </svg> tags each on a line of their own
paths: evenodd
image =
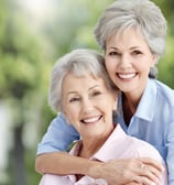
<svg viewBox="0 0 174 185">
<path fill-rule="evenodd" d="M 106 67 L 112 81 L 123 92 L 142 95 L 155 59 L 143 36 L 134 29 L 107 41 Z"/>
</svg>

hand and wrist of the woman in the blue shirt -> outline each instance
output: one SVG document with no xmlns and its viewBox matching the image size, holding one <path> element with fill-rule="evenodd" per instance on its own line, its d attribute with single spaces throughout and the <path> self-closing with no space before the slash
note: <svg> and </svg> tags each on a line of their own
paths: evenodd
<svg viewBox="0 0 174 185">
<path fill-rule="evenodd" d="M 93 177 L 105 178 L 109 185 L 129 183 L 150 185 L 159 184 L 162 170 L 161 164 L 149 157 L 121 159 L 94 166 L 89 174 Z"/>
</svg>

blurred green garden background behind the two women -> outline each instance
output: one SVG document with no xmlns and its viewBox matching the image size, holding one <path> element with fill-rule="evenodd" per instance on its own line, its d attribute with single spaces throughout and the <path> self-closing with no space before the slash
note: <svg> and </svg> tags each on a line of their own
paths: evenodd
<svg viewBox="0 0 174 185">
<path fill-rule="evenodd" d="M 159 79 L 174 87 L 174 1 L 153 0 L 168 22 Z M 37 185 L 37 143 L 56 116 L 47 106 L 55 61 L 77 47 L 100 50 L 93 35 L 113 0 L 0 0 L 0 185 Z"/>
</svg>

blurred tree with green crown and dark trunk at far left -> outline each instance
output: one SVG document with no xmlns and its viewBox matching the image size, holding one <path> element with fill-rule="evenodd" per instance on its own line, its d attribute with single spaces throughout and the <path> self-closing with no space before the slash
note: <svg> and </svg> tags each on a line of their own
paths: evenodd
<svg viewBox="0 0 174 185">
<path fill-rule="evenodd" d="M 28 122 L 29 101 L 41 85 L 40 40 L 20 14 L 15 1 L 1 0 L 0 11 L 0 98 L 13 110 L 12 184 L 26 184 L 23 129 Z M 22 12 L 21 12 L 22 13 Z M 33 102 L 34 104 L 34 102 Z"/>
</svg>

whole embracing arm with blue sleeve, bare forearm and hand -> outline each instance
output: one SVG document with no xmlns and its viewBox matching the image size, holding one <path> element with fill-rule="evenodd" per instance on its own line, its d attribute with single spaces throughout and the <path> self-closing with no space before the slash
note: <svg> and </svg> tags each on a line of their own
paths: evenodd
<svg viewBox="0 0 174 185">
<path fill-rule="evenodd" d="M 146 181 L 156 181 L 160 176 L 161 166 L 151 159 L 113 160 L 101 163 L 59 152 L 66 151 L 70 142 L 77 139 L 78 133 L 66 123 L 62 115 L 58 116 L 39 144 L 35 170 L 39 173 L 81 174 L 105 178 L 110 185 L 127 184 L 134 177 L 135 182 L 148 184 Z M 140 171 L 142 163 L 146 166 L 144 171 Z"/>
</svg>

